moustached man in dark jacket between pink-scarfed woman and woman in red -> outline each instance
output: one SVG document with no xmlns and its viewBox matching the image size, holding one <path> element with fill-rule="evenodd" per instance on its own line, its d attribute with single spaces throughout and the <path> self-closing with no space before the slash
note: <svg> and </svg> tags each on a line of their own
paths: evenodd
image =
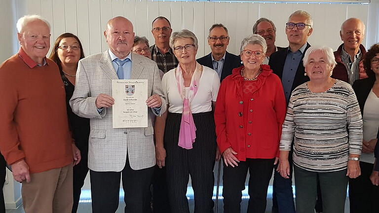
<svg viewBox="0 0 379 213">
<path fill-rule="evenodd" d="M 231 74 L 234 68 L 242 66 L 239 56 L 227 52 L 229 36 L 223 24 L 212 25 L 209 29 L 208 44 L 212 52 L 197 59 L 197 62 L 215 70 L 221 81 Z"/>
</svg>

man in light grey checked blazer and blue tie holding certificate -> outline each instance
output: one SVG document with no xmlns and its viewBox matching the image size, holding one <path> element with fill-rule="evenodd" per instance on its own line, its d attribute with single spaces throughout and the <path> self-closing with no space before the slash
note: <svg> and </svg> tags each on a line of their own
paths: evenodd
<svg viewBox="0 0 379 213">
<path fill-rule="evenodd" d="M 114 213 L 119 184 L 125 192 L 125 212 L 150 211 L 149 187 L 155 165 L 153 128 L 113 128 L 112 79 L 148 79 L 147 107 L 159 116 L 166 110 L 156 63 L 131 53 L 132 23 L 124 17 L 108 21 L 104 36 L 109 49 L 78 63 L 76 87 L 70 100 L 73 111 L 90 118 L 88 168 L 93 213 Z"/>
</svg>

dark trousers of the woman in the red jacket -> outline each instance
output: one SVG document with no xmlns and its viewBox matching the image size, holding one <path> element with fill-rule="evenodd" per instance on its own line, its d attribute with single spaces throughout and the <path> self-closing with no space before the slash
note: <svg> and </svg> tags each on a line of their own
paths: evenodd
<svg viewBox="0 0 379 213">
<path fill-rule="evenodd" d="M 241 161 L 238 166 L 224 166 L 223 197 L 224 213 L 240 213 L 242 190 L 249 171 L 249 204 L 247 213 L 265 213 L 267 188 L 272 176 L 275 159 L 251 159 Z"/>
</svg>

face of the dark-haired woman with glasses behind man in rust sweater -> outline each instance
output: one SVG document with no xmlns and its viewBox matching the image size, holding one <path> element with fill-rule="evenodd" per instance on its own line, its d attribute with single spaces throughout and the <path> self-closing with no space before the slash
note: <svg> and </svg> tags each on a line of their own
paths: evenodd
<svg viewBox="0 0 379 213">
<path fill-rule="evenodd" d="M 65 37 L 59 42 L 59 46 L 69 46 L 68 49 L 63 50 L 58 48 L 57 54 L 62 64 L 77 64 L 80 60 L 80 45 L 75 37 Z M 73 47 L 79 47 L 74 50 Z"/>
</svg>

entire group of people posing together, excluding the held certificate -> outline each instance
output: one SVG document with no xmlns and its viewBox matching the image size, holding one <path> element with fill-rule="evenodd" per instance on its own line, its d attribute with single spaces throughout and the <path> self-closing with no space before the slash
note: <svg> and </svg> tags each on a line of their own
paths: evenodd
<svg viewBox="0 0 379 213">
<path fill-rule="evenodd" d="M 19 52 L 0 65 L 0 151 L 25 212 L 76 213 L 89 171 L 94 213 L 117 210 L 120 181 L 125 213 L 189 213 L 189 177 L 194 211 L 210 213 L 221 158 L 225 213 L 241 211 L 248 172 L 248 213 L 265 212 L 272 173 L 273 213 L 343 213 L 348 184 L 351 213 L 378 210 L 379 44 L 366 52 L 365 25 L 350 18 L 336 52 L 313 47 L 312 26 L 295 11 L 277 47 L 261 18 L 234 55 L 214 24 L 196 60 L 189 30 L 157 17 L 150 46 L 118 16 L 105 52 L 85 57 L 65 33 L 47 58 L 50 24 L 20 18 Z M 148 127 L 113 128 L 112 79 L 148 79 Z"/>
</svg>

